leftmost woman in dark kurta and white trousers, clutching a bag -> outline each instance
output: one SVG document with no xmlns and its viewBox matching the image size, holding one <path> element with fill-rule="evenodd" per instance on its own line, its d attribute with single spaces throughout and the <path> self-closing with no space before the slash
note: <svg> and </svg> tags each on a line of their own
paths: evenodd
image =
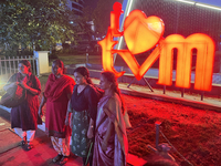
<svg viewBox="0 0 221 166">
<path fill-rule="evenodd" d="M 27 97 L 20 105 L 11 108 L 11 127 L 22 138 L 21 145 L 30 151 L 38 125 L 38 95 L 41 93 L 41 83 L 31 73 L 31 63 L 28 60 L 19 62 L 19 73 L 13 74 L 3 89 L 8 91 L 14 87 L 18 95 L 24 90 Z"/>
</svg>

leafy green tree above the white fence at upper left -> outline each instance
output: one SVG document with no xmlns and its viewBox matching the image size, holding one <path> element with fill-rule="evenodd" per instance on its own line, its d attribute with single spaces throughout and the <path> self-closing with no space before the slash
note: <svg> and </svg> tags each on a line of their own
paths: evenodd
<svg viewBox="0 0 221 166">
<path fill-rule="evenodd" d="M 73 41 L 71 14 L 65 0 L 4 0 L 0 3 L 0 43 L 34 43 L 39 50 L 49 50 L 56 42 Z"/>
</svg>

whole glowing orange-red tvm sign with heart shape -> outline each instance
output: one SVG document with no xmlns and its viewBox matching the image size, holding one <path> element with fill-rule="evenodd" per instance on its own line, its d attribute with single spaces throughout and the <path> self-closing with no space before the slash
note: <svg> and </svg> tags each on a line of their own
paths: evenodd
<svg viewBox="0 0 221 166">
<path fill-rule="evenodd" d="M 183 38 L 180 34 L 171 34 L 162 38 L 165 31 L 164 21 L 155 15 L 146 17 L 140 10 L 134 10 L 125 19 L 124 32 L 119 31 L 119 15 L 122 4 L 115 2 L 114 11 L 110 12 L 110 27 L 104 40 L 98 44 L 102 46 L 102 62 L 105 71 L 112 71 L 116 76 L 122 76 L 125 72 L 117 72 L 114 69 L 114 53 L 118 53 L 127 63 L 137 80 L 140 80 L 149 68 L 159 58 L 159 80 L 158 84 L 171 85 L 172 83 L 172 50 L 178 50 L 176 86 L 190 87 L 192 50 L 197 50 L 194 89 L 210 91 L 212 84 L 212 70 L 214 60 L 214 42 L 202 33 L 191 34 Z M 117 41 L 114 37 L 124 35 L 128 50 L 115 50 Z M 135 54 L 154 51 L 139 65 Z"/>
</svg>

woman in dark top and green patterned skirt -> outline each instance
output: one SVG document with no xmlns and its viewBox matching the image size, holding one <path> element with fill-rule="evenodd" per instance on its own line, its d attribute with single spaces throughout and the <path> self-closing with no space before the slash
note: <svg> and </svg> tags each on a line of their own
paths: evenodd
<svg viewBox="0 0 221 166">
<path fill-rule="evenodd" d="M 72 126 L 72 153 L 83 158 L 83 165 L 92 165 L 94 123 L 97 111 L 97 93 L 90 72 L 80 66 L 74 70 L 76 85 L 69 103 L 66 125 Z M 71 122 L 69 122 L 71 117 Z M 91 149 L 91 151 L 90 151 Z M 90 153 L 91 152 L 91 153 Z"/>
</svg>

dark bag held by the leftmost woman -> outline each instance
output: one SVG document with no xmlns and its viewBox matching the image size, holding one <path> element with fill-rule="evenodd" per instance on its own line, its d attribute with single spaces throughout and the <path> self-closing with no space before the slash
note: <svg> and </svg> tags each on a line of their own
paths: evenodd
<svg viewBox="0 0 221 166">
<path fill-rule="evenodd" d="M 15 107 L 22 104 L 27 98 L 27 91 L 20 85 L 9 89 L 7 93 L 1 97 L 0 105 L 7 107 Z"/>
</svg>

